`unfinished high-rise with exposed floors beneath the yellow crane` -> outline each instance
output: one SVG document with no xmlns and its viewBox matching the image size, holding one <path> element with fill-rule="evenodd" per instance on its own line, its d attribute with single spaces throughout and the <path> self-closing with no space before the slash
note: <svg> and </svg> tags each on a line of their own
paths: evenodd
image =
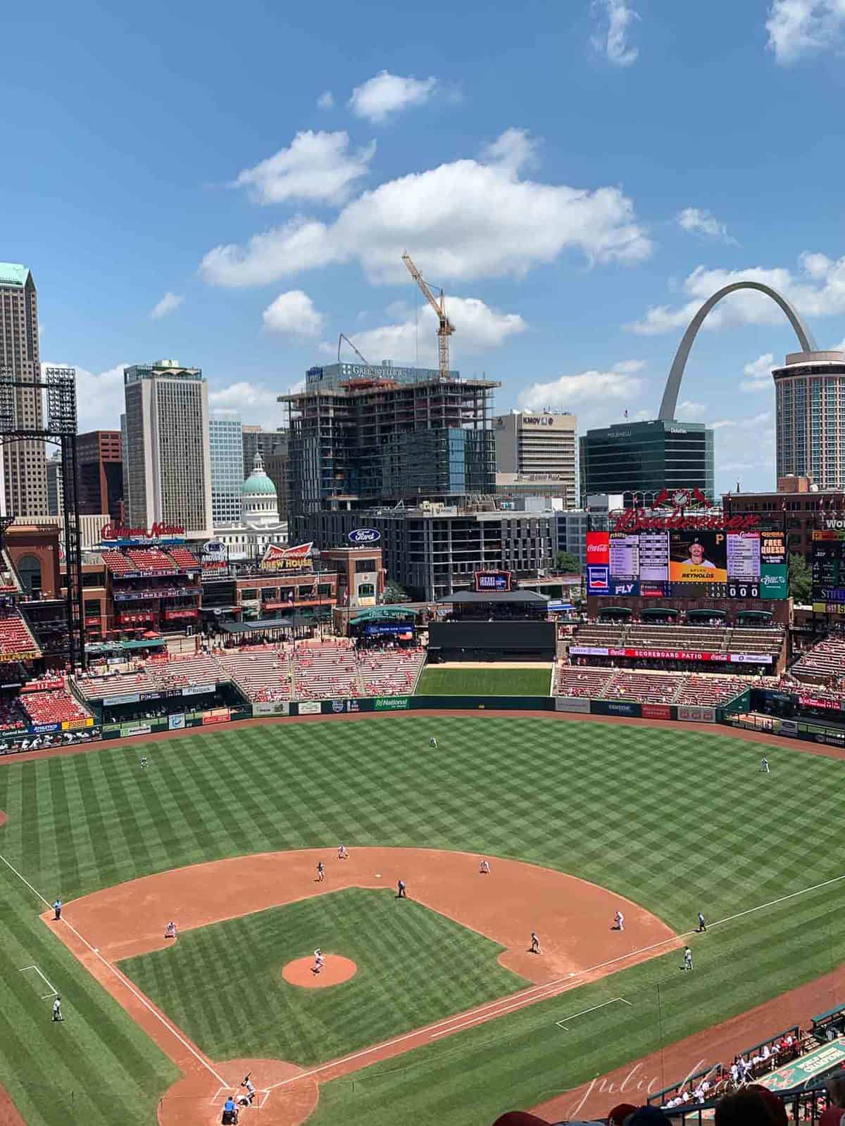
<svg viewBox="0 0 845 1126">
<path fill-rule="evenodd" d="M 489 379 L 438 369 L 332 364 L 281 395 L 288 412 L 291 535 L 326 511 L 495 493 Z"/>
</svg>

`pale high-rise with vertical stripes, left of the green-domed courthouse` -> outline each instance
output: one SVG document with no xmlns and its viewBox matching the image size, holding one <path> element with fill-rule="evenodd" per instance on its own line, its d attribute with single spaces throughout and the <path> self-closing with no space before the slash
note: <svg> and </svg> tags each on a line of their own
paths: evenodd
<svg viewBox="0 0 845 1126">
<path fill-rule="evenodd" d="M 124 368 L 128 522 L 212 534 L 208 384 L 175 359 Z"/>
</svg>

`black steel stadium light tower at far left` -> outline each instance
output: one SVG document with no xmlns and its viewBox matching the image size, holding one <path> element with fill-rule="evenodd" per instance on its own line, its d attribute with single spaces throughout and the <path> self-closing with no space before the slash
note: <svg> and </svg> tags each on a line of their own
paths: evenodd
<svg viewBox="0 0 845 1126">
<path fill-rule="evenodd" d="M 45 393 L 46 422 L 21 426 L 18 391 Z M 59 446 L 62 458 L 62 516 L 64 517 L 64 565 L 66 574 L 68 663 L 84 669 L 86 636 L 82 605 L 82 540 L 79 520 L 77 459 L 77 372 L 72 367 L 43 368 L 41 379 L 16 378 L 9 367 L 0 367 L 0 445 L 11 441 L 44 441 Z M 7 513 L 2 531 L 15 520 Z M 0 546 L 2 542 L 0 540 Z"/>
</svg>

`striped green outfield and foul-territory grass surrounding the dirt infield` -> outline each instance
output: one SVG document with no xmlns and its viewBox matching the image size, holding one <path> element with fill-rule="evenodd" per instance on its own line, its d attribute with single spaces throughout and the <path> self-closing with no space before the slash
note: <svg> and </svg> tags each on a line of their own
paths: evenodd
<svg viewBox="0 0 845 1126">
<path fill-rule="evenodd" d="M 767 750 L 765 776 L 760 753 L 705 729 L 490 715 L 232 726 L 5 763 L 0 854 L 47 900 L 69 901 L 151 872 L 338 840 L 461 849 L 573 873 L 687 930 L 700 909 L 713 922 L 845 872 L 845 765 L 784 744 Z M 656 1049 L 660 1025 L 668 1043 L 845 962 L 844 908 L 837 881 L 711 927 L 692 941 L 693 974 L 670 954 L 433 1042 L 323 1087 L 314 1123 L 487 1126 Z M 113 1126 L 117 1106 L 122 1126 L 152 1126 L 174 1067 L 41 910 L 0 864 L 0 1082 L 28 1126 Z M 33 964 L 62 992 L 63 1025 L 37 976 L 20 973 Z M 343 990 L 328 993 L 340 1003 Z M 554 1024 L 619 995 L 633 1006 L 568 1033 Z"/>
</svg>

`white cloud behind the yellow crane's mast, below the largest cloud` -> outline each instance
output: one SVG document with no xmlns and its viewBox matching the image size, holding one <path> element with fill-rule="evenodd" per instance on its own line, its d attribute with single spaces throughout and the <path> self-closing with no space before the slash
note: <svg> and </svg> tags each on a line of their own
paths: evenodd
<svg viewBox="0 0 845 1126">
<path fill-rule="evenodd" d="M 518 313 L 500 313 L 477 297 L 447 298 L 446 312 L 455 325 L 451 346 L 453 368 L 460 367 L 461 357 L 500 348 L 510 337 L 518 336 L 527 329 L 527 324 Z M 371 364 L 392 359 L 398 364 L 419 361 L 420 365 L 436 367 L 437 318 L 430 305 L 420 306 L 419 324 L 413 312 L 407 306 L 394 309 L 394 313 L 402 318 L 395 324 L 383 324 L 364 332 L 356 332 L 352 337 L 355 347 Z M 321 350 L 331 355 L 336 348 L 326 343 Z"/>
</svg>

